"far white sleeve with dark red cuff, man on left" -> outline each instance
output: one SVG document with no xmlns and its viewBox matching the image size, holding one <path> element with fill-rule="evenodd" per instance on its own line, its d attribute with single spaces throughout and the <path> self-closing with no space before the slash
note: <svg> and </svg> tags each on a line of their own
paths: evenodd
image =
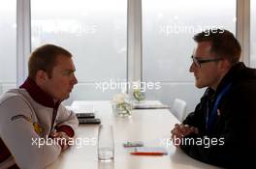
<svg viewBox="0 0 256 169">
<path fill-rule="evenodd" d="M 79 121 L 76 114 L 68 110 L 64 105 L 60 104 L 56 118 L 57 131 L 64 131 L 70 137 L 75 135 L 75 130 L 79 126 Z"/>
</svg>

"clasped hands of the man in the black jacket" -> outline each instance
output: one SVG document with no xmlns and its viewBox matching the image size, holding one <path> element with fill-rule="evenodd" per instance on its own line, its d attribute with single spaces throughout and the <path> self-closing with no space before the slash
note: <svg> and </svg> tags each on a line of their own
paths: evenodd
<svg viewBox="0 0 256 169">
<path fill-rule="evenodd" d="M 179 147 L 181 140 L 184 136 L 190 134 L 190 133 L 198 133 L 197 127 L 190 127 L 188 125 L 183 124 L 176 124 L 174 129 L 171 130 L 172 133 L 172 140 L 176 147 Z M 179 140 L 176 142 L 176 140 Z"/>
</svg>

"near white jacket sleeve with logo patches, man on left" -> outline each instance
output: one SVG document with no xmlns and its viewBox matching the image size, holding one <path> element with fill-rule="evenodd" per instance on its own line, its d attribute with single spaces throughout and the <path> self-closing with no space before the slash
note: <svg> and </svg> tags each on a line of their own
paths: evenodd
<svg viewBox="0 0 256 169">
<path fill-rule="evenodd" d="M 29 102 L 20 96 L 0 103 L 0 136 L 19 168 L 41 169 L 60 155 L 61 147 L 46 143 L 34 130 Z M 42 144 L 40 146 L 40 143 Z"/>
</svg>

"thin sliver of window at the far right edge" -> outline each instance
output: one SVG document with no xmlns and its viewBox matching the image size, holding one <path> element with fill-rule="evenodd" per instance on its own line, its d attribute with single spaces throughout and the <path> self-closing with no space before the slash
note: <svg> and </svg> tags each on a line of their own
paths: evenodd
<svg viewBox="0 0 256 169">
<path fill-rule="evenodd" d="M 256 68 L 256 1 L 250 1 L 250 66 Z"/>
</svg>

